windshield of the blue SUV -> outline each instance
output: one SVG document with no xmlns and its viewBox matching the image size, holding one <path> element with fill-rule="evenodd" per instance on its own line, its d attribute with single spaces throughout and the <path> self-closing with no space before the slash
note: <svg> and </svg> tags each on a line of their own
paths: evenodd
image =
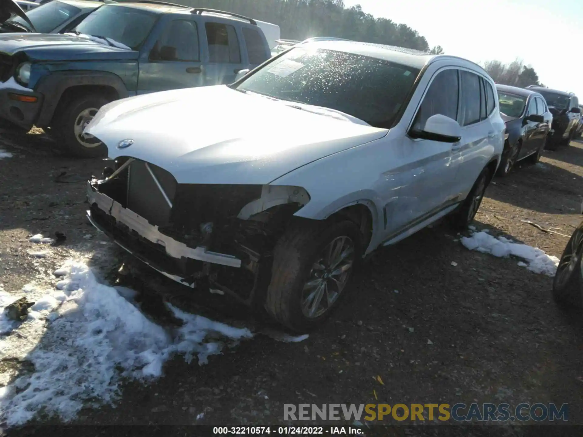
<svg viewBox="0 0 583 437">
<path fill-rule="evenodd" d="M 156 22 L 157 14 L 124 6 L 101 6 L 75 30 L 86 35 L 110 38 L 138 50 Z"/>
</svg>

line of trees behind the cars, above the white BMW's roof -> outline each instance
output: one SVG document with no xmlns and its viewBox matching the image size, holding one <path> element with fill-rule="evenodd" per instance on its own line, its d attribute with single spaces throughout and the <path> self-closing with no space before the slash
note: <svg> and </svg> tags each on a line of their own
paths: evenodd
<svg viewBox="0 0 583 437">
<path fill-rule="evenodd" d="M 345 8 L 343 0 L 174 0 L 193 8 L 228 10 L 278 24 L 281 37 L 304 40 L 315 36 L 345 38 L 430 51 L 427 40 L 406 24 L 364 13 L 360 5 Z M 434 51 L 442 52 L 441 47 Z"/>
</svg>

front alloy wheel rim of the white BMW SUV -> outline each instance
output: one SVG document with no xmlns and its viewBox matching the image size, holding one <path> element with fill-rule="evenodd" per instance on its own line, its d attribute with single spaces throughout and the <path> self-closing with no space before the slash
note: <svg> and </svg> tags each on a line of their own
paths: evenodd
<svg viewBox="0 0 583 437">
<path fill-rule="evenodd" d="M 301 294 L 305 317 L 318 318 L 338 300 L 352 272 L 354 252 L 354 242 L 343 235 L 319 253 Z"/>
</svg>

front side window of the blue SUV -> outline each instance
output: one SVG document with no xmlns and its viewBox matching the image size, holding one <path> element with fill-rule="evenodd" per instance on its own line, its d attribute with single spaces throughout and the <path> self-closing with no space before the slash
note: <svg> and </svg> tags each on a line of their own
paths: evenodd
<svg viewBox="0 0 583 437">
<path fill-rule="evenodd" d="M 170 22 L 156 41 L 152 61 L 199 61 L 198 30 L 196 23 L 188 20 Z"/>
</svg>

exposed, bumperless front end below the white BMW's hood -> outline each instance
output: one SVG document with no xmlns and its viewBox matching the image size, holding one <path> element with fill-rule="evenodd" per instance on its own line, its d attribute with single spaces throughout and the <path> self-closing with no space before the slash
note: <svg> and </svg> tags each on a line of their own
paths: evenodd
<svg viewBox="0 0 583 437">
<path fill-rule="evenodd" d="M 271 279 L 271 251 L 309 200 L 303 188 L 178 184 L 133 158 L 87 186 L 89 219 L 120 246 L 182 284 L 247 304 Z"/>
</svg>

